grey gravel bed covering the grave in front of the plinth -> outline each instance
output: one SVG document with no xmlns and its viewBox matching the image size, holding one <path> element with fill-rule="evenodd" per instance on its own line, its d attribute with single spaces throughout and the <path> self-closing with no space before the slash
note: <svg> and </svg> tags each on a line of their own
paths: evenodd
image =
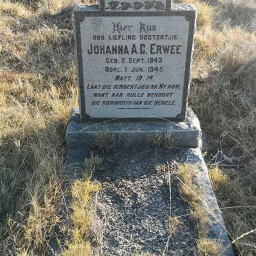
<svg viewBox="0 0 256 256">
<path fill-rule="evenodd" d="M 100 243 L 94 244 L 95 253 L 195 255 L 198 235 L 175 180 L 175 165 L 170 171 L 156 171 L 156 166 L 173 164 L 177 156 L 160 149 L 122 149 L 105 158 L 104 168 L 93 177 L 103 186 L 96 204 L 97 232 L 102 234 Z M 169 237 L 169 220 L 175 216 L 180 224 Z"/>
</svg>

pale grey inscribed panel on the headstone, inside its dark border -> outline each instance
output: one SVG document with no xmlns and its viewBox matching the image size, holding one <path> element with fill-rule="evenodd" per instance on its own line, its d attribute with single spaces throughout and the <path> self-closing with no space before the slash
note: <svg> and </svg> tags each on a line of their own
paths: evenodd
<svg viewBox="0 0 256 256">
<path fill-rule="evenodd" d="M 182 16 L 153 21 L 85 17 L 81 31 L 90 117 L 175 118 L 181 113 L 189 21 Z"/>
</svg>

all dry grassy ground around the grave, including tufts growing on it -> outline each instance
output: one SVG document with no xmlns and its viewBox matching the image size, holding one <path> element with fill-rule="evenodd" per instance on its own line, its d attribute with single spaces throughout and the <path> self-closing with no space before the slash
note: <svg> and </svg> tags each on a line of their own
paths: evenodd
<svg viewBox="0 0 256 256">
<path fill-rule="evenodd" d="M 179 2 L 198 10 L 189 104 L 206 138 L 204 158 L 213 189 L 233 250 L 255 255 L 255 1 Z M 82 255 L 91 253 L 91 199 L 105 184 L 87 176 L 70 181 L 64 175 L 65 127 L 77 105 L 74 4 L 0 0 L 2 255 L 44 255 L 54 233 L 62 234 L 64 255 L 79 255 L 82 249 Z M 98 155 L 85 162 L 87 173 L 111 162 Z M 163 169 L 167 172 L 159 175 L 168 175 L 168 167 Z M 176 177 L 191 184 L 191 177 Z M 191 195 L 182 196 L 194 202 Z M 195 204 L 187 205 L 193 211 Z M 194 219 L 191 225 L 198 228 Z M 179 221 L 169 220 L 169 231 L 179 228 Z M 204 240 L 196 246 L 206 255 L 204 249 L 216 249 Z"/>
</svg>

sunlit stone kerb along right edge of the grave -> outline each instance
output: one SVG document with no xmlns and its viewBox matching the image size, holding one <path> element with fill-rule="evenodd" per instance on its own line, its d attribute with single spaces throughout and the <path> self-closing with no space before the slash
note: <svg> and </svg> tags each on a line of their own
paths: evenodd
<svg viewBox="0 0 256 256">
<path fill-rule="evenodd" d="M 213 192 L 211 181 L 208 175 L 208 169 L 202 157 L 200 147 L 184 148 L 180 150 L 180 160 L 189 164 L 195 164 L 197 177 L 195 183 L 202 192 L 202 203 L 207 209 L 207 217 L 209 219 L 209 239 L 215 239 L 222 244 L 221 255 L 233 256 L 231 243 L 228 239 L 222 212 L 217 204 L 217 199 Z"/>
</svg>

